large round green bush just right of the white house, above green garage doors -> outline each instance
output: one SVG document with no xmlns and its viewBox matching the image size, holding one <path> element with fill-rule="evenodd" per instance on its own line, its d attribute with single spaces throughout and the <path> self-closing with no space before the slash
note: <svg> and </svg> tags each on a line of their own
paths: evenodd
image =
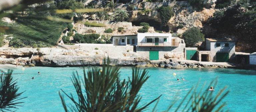
<svg viewBox="0 0 256 112">
<path fill-rule="evenodd" d="M 190 28 L 183 33 L 186 47 L 195 47 L 195 44 L 204 41 L 204 34 L 198 28 Z"/>
</svg>

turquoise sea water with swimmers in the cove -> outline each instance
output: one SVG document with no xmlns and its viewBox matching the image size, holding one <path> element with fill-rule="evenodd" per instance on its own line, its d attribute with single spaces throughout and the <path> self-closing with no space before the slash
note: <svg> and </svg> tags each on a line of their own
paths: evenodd
<svg viewBox="0 0 256 112">
<path fill-rule="evenodd" d="M 234 69 L 164 69 L 147 68 L 150 78 L 142 86 L 140 95 L 141 104 L 147 103 L 162 94 L 157 106 L 158 111 L 164 111 L 176 99 L 181 100 L 192 86 L 201 79 L 199 86 L 209 84 L 218 77 L 218 84 L 214 87 L 217 92 L 224 86 L 228 86 L 230 93 L 223 101 L 227 101 L 225 109 L 232 112 L 253 112 L 256 110 L 256 71 Z M 70 80 L 72 72 L 83 74 L 82 67 L 18 67 L 13 72 L 14 79 L 18 79 L 20 91 L 25 91 L 22 96 L 27 98 L 17 112 L 64 112 L 59 90 L 67 93 L 75 93 Z M 40 75 L 37 72 L 40 71 Z M 121 79 L 131 76 L 131 67 L 121 68 Z M 174 77 L 172 74 L 176 73 Z M 34 77 L 34 80 L 29 80 Z M 187 81 L 177 82 L 177 78 Z M 67 104 L 71 103 L 65 97 Z M 150 106 L 152 110 L 154 104 Z M 173 108 L 175 109 L 175 108 Z"/>
</svg>

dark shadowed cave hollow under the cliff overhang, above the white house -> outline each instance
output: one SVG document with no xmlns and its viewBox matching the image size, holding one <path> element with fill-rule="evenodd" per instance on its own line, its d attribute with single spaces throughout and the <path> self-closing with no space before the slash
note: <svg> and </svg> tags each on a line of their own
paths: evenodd
<svg viewBox="0 0 256 112">
<path fill-rule="evenodd" d="M 145 22 L 148 23 L 150 27 L 154 27 L 155 31 L 165 31 L 169 32 L 169 27 L 168 26 L 162 26 L 160 22 L 154 21 L 154 20 L 146 20 L 146 21 L 133 21 L 132 25 L 133 26 L 140 26 L 140 23 Z"/>
</svg>

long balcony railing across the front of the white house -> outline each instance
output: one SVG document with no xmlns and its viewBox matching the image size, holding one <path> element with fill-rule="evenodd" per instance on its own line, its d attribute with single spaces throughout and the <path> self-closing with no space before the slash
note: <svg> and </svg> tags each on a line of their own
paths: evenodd
<svg viewBox="0 0 256 112">
<path fill-rule="evenodd" d="M 138 42 L 138 46 L 179 46 L 179 42 Z"/>
</svg>

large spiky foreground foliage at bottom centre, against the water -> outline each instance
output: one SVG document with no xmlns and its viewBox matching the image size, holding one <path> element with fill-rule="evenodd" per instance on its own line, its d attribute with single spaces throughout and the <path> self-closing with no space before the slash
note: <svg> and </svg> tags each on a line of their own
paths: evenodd
<svg viewBox="0 0 256 112">
<path fill-rule="evenodd" d="M 143 106 L 138 106 L 141 101 L 141 96 L 138 92 L 142 85 L 148 80 L 146 70 L 140 70 L 137 67 L 132 68 L 132 78 L 128 81 L 120 80 L 120 67 L 110 66 L 110 60 L 104 60 L 102 69 L 88 68 L 84 78 L 81 79 L 78 74 L 73 73 L 72 83 L 76 89 L 79 101 L 76 101 L 73 95 L 68 95 L 71 101 L 75 104 L 70 105 L 71 111 L 77 112 L 134 112 L 143 111 L 151 103 L 159 97 L 153 99 Z M 82 90 L 82 86 L 84 87 Z M 63 95 L 59 92 L 63 107 L 68 112 Z"/>
</svg>

